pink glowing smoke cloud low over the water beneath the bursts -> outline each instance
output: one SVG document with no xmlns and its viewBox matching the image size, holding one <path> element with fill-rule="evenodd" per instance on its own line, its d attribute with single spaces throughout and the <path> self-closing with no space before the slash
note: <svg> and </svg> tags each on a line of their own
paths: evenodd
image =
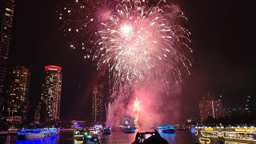
<svg viewBox="0 0 256 144">
<path fill-rule="evenodd" d="M 179 119 L 179 84 L 173 85 L 168 92 L 166 83 L 150 82 L 146 85 L 131 89 L 122 86 L 122 89 L 112 94 L 115 98 L 109 110 L 107 126 L 122 125 L 125 118 L 135 119 L 134 101 L 138 98 L 139 114 L 138 127 L 150 129 L 163 124 L 173 124 Z"/>
</svg>

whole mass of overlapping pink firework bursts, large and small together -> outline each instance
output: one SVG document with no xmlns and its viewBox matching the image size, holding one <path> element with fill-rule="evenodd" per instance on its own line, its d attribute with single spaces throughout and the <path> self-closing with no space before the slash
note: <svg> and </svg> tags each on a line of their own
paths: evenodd
<svg viewBox="0 0 256 144">
<path fill-rule="evenodd" d="M 181 26 L 187 18 L 181 10 L 159 0 L 149 6 L 147 0 L 75 0 L 76 8 L 64 8 L 60 19 L 74 41 L 88 48 L 98 69 L 107 66 L 114 83 L 140 86 L 146 81 L 181 81 L 180 67 L 189 72 L 186 58 L 190 32 Z M 75 6 L 73 6 L 75 7 Z M 67 15 L 67 18 L 62 18 Z M 73 19 L 73 21 L 72 21 Z M 75 19 L 75 20 L 74 20 Z M 74 42 L 76 43 L 76 42 Z M 71 45 L 75 48 L 74 44 Z M 189 72 L 190 73 L 190 72 Z"/>
</svg>

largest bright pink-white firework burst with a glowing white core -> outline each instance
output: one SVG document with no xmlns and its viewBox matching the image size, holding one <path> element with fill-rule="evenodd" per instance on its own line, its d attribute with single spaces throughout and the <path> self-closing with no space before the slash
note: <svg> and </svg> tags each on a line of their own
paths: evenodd
<svg viewBox="0 0 256 144">
<path fill-rule="evenodd" d="M 186 20 L 182 11 L 171 6 L 149 7 L 138 0 L 122 2 L 116 9 L 98 30 L 94 54 L 98 68 L 108 64 L 116 82 L 168 82 L 170 73 L 177 78 L 175 82 L 181 81 L 179 63 L 188 72 L 191 65 L 182 51 L 192 52 L 190 32 L 179 25 L 181 19 Z"/>
</svg>

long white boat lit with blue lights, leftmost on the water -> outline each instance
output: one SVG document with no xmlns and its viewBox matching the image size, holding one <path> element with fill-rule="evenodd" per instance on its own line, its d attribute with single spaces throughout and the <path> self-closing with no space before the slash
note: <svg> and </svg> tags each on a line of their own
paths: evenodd
<svg viewBox="0 0 256 144">
<path fill-rule="evenodd" d="M 21 130 L 18 132 L 19 140 L 49 138 L 58 135 L 57 129 L 50 130 Z"/>
</svg>

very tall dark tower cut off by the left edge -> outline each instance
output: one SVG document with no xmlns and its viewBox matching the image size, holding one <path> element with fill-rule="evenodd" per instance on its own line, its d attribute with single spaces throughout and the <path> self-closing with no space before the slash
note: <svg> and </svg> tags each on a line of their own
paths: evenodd
<svg viewBox="0 0 256 144">
<path fill-rule="evenodd" d="M 14 18 L 14 3 L 14 0 L 0 0 L 0 98 L 4 97 L 5 91 L 4 86 Z"/>
</svg>

